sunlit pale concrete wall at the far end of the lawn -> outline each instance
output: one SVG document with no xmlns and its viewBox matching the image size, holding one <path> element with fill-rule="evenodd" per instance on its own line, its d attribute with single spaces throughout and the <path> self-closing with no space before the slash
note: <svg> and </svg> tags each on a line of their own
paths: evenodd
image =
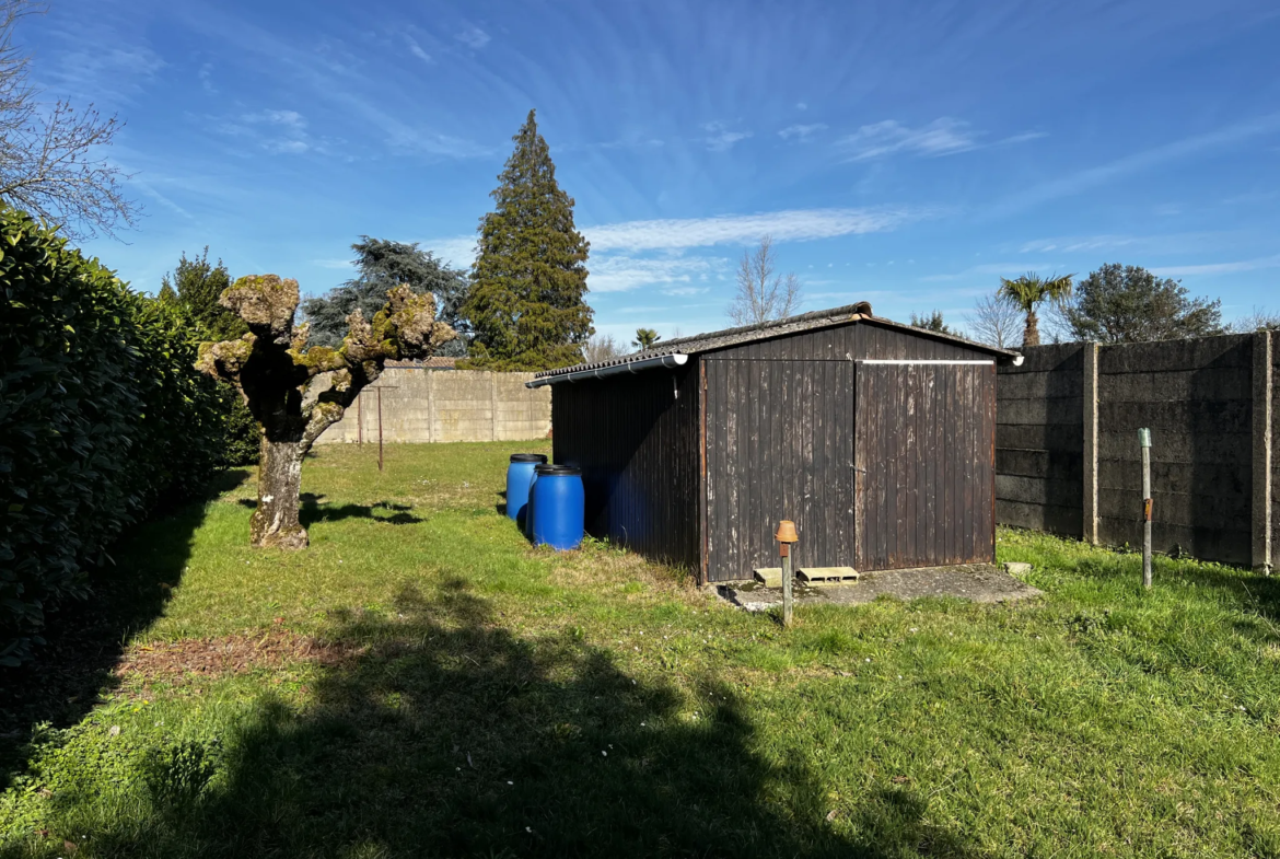
<svg viewBox="0 0 1280 859">
<path fill-rule="evenodd" d="M 547 438 L 552 428 L 550 388 L 530 390 L 532 373 L 388 367 L 360 394 L 319 444 L 378 442 L 381 388 L 385 442 L 521 442 Z"/>
</svg>

